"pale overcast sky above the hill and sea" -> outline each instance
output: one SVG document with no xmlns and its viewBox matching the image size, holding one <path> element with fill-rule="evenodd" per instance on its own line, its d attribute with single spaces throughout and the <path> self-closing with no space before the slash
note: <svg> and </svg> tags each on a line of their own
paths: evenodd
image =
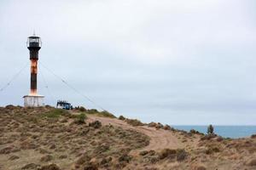
<svg viewBox="0 0 256 170">
<path fill-rule="evenodd" d="M 254 0 L 0 1 L 0 88 L 42 37 L 38 93 L 143 122 L 256 125 Z M 23 105 L 29 66 L 0 92 Z M 49 88 L 45 88 L 48 85 Z"/>
</svg>

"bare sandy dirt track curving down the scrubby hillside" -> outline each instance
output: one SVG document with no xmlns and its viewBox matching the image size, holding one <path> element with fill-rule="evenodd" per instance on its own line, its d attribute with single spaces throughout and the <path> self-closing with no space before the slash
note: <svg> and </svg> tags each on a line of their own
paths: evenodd
<svg viewBox="0 0 256 170">
<path fill-rule="evenodd" d="M 113 126 L 122 127 L 124 129 L 132 129 L 139 133 L 146 134 L 150 138 L 150 142 L 146 148 L 143 148 L 143 150 L 162 150 L 165 148 L 177 149 L 183 147 L 183 144 L 177 139 L 172 131 L 156 129 L 154 127 L 147 126 L 133 127 L 119 119 L 89 116 L 89 122 L 93 122 L 96 120 L 102 122 L 103 125 L 111 124 Z"/>
</svg>

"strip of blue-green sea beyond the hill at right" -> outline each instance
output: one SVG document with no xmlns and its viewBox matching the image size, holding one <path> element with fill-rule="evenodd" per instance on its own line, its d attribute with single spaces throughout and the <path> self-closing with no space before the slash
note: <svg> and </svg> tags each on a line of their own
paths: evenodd
<svg viewBox="0 0 256 170">
<path fill-rule="evenodd" d="M 177 129 L 188 131 L 190 129 L 195 129 L 201 133 L 207 133 L 207 126 L 172 126 Z M 244 137 L 250 137 L 252 134 L 256 134 L 256 126 L 214 126 L 214 133 L 217 133 L 218 135 L 225 137 L 225 138 L 232 138 L 232 139 L 238 139 L 238 138 L 244 138 Z"/>
</svg>

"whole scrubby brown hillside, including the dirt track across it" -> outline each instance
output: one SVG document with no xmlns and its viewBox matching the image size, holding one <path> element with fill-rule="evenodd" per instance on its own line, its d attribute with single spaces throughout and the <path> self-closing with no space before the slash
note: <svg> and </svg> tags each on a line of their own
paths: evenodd
<svg viewBox="0 0 256 170">
<path fill-rule="evenodd" d="M 224 139 L 108 112 L 0 107 L 0 170 L 256 169 L 256 136 Z"/>
</svg>

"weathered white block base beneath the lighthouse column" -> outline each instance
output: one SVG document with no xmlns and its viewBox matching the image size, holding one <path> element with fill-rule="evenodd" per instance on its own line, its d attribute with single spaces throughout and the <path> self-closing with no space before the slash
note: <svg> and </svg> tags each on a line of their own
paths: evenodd
<svg viewBox="0 0 256 170">
<path fill-rule="evenodd" d="M 24 98 L 24 107 L 40 107 L 44 106 L 44 96 L 38 94 L 29 94 L 23 96 Z"/>
</svg>

